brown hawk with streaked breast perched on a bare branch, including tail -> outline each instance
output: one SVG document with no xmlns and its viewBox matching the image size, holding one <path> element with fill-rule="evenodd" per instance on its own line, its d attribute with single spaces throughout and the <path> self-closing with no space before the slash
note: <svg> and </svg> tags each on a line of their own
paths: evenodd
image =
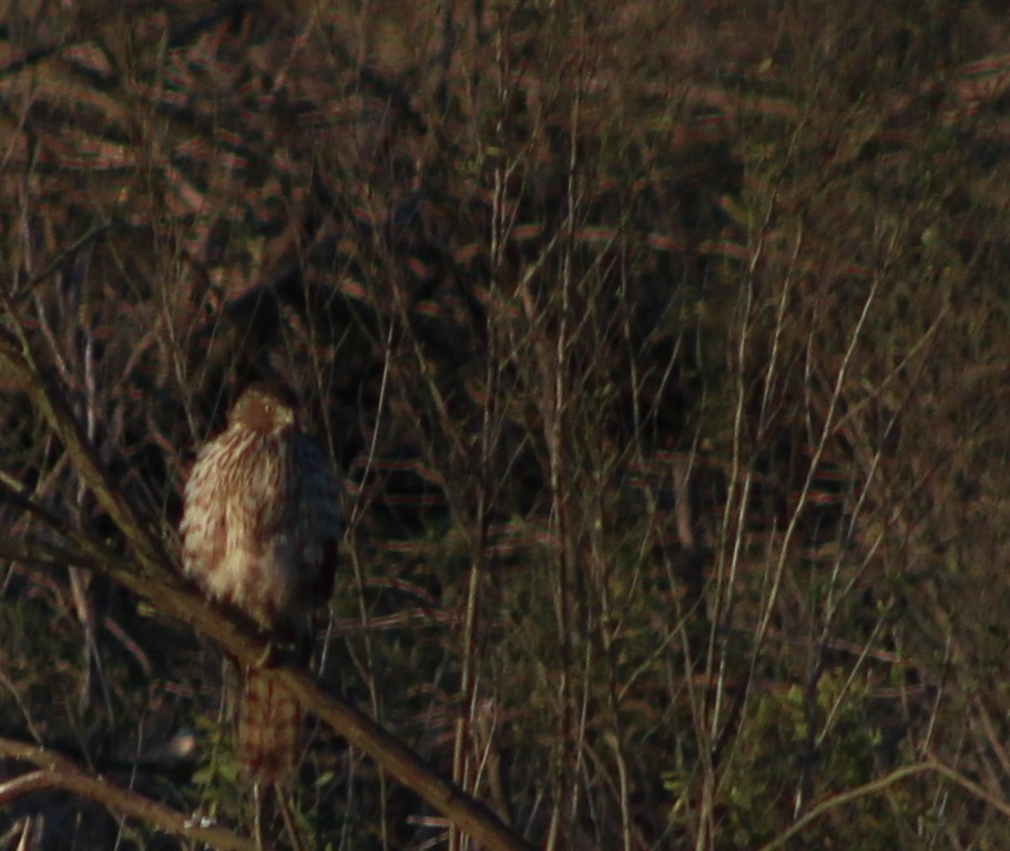
<svg viewBox="0 0 1010 851">
<path fill-rule="evenodd" d="M 286 390 L 251 386 L 186 483 L 180 531 L 187 575 L 264 630 L 308 648 L 312 608 L 333 591 L 339 482 L 302 433 Z M 264 783 L 295 765 L 300 708 L 268 668 L 242 671 L 238 756 Z"/>
</svg>

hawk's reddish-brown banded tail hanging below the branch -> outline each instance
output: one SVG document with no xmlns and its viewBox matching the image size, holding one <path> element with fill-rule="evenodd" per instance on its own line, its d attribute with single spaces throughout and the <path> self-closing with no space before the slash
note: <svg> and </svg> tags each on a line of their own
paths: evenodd
<svg viewBox="0 0 1010 851">
<path fill-rule="evenodd" d="M 263 783 L 290 776 L 302 707 L 273 670 L 246 670 L 238 706 L 238 760 Z"/>
</svg>

